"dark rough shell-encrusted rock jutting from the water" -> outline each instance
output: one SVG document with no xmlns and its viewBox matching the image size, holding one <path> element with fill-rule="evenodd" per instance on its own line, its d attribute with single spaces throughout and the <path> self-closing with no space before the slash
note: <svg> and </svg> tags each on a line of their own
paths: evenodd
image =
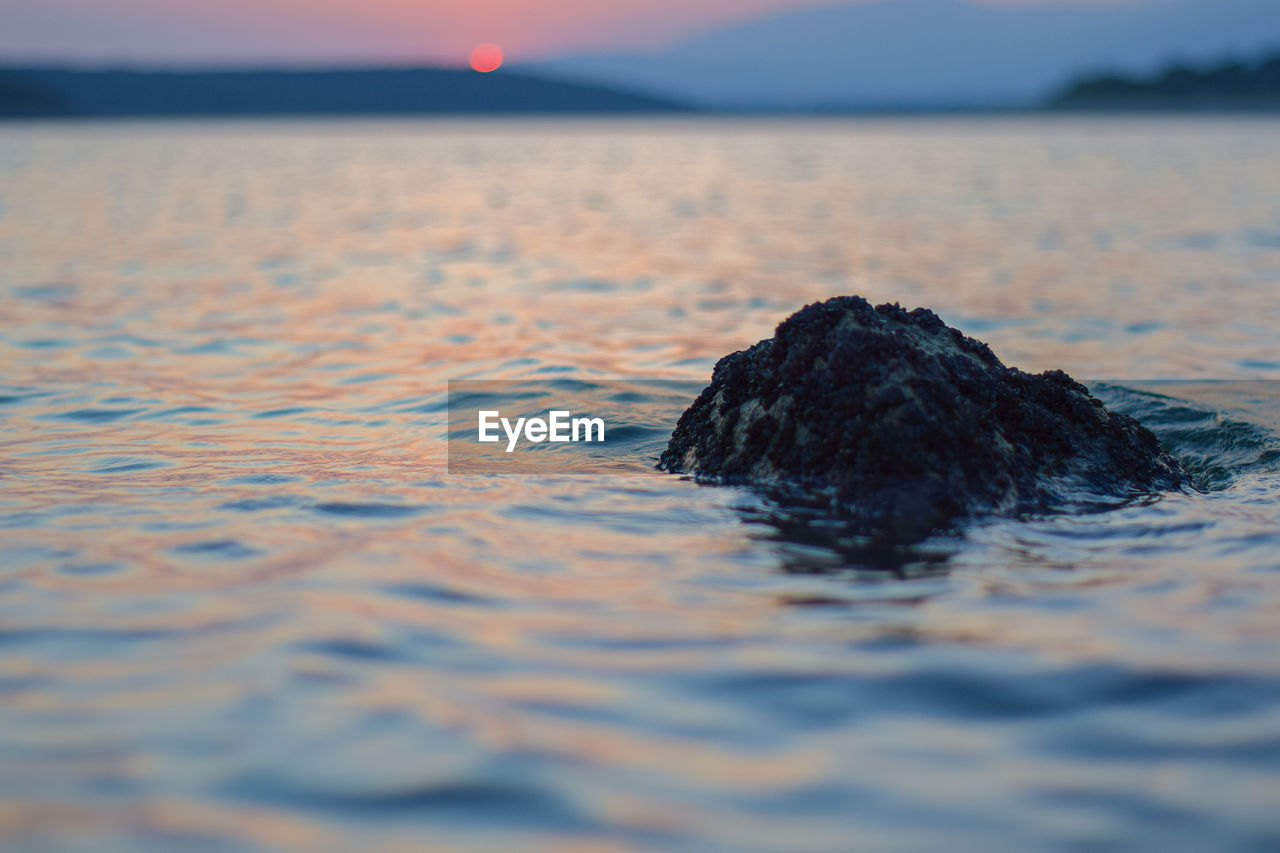
<svg viewBox="0 0 1280 853">
<path fill-rule="evenodd" d="M 932 311 L 856 296 L 721 359 L 658 467 L 818 496 L 891 537 L 1189 483 L 1155 434 L 1061 370 L 1006 368 Z"/>
</svg>

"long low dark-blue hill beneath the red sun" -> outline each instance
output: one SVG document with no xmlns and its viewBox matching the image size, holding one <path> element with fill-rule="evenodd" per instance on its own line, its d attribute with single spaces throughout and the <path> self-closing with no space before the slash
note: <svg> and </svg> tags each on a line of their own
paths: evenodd
<svg viewBox="0 0 1280 853">
<path fill-rule="evenodd" d="M 137 72 L 0 68 L 0 118 L 669 113 L 689 108 L 518 73 Z"/>
</svg>

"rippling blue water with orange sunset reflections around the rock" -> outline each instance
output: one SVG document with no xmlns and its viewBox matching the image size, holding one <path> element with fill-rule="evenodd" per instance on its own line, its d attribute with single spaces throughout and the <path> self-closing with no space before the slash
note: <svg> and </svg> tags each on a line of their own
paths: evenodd
<svg viewBox="0 0 1280 853">
<path fill-rule="evenodd" d="M 1277 161 L 1271 119 L 0 126 L 5 849 L 1275 849 Z M 648 470 L 660 396 L 626 470 L 447 471 L 449 379 L 705 379 L 836 293 L 1093 380 L 1206 491 L 876 565 Z"/>
</svg>

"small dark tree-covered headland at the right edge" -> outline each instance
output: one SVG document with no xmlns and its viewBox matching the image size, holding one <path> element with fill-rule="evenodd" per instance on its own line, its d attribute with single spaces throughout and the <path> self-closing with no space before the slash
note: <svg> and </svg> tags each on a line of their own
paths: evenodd
<svg viewBox="0 0 1280 853">
<path fill-rule="evenodd" d="M 1280 110 L 1280 54 L 1257 63 L 1174 65 L 1151 77 L 1102 74 L 1050 102 L 1064 110 Z"/>
</svg>

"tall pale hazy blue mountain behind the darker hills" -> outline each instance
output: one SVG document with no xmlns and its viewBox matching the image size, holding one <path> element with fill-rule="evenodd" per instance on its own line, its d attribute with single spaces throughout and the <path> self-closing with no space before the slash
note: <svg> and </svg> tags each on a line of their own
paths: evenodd
<svg viewBox="0 0 1280 853">
<path fill-rule="evenodd" d="M 1276 45 L 1280 0 L 872 0 L 717 29 L 657 54 L 527 68 L 714 106 L 997 106 L 1038 102 L 1091 69 L 1138 73 Z"/>
</svg>

